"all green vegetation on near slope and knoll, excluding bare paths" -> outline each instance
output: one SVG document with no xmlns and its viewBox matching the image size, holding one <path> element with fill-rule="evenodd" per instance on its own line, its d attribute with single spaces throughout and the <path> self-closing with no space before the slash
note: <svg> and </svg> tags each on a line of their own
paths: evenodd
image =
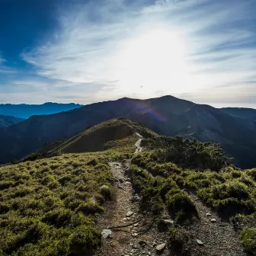
<svg viewBox="0 0 256 256">
<path fill-rule="evenodd" d="M 136 133 L 146 139 L 143 152 L 134 155 Z M 256 251 L 256 231 L 251 229 L 256 222 L 256 169 L 235 168 L 217 144 L 158 136 L 140 123 L 118 118 L 0 168 L 0 254 L 94 251 L 101 243 L 96 216 L 114 195 L 108 163 L 127 158 L 132 158 L 130 178 L 141 197 L 140 209 L 171 215 L 170 241 L 177 251 L 189 240 L 184 226 L 198 219 L 191 193 L 242 231 L 246 251 Z M 158 229 L 167 231 L 164 219 L 158 218 Z"/>
</svg>

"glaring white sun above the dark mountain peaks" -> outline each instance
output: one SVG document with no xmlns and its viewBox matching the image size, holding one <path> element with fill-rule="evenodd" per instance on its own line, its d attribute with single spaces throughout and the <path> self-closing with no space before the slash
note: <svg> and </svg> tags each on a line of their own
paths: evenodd
<svg viewBox="0 0 256 256">
<path fill-rule="evenodd" d="M 184 42 L 172 30 L 155 29 L 124 43 L 117 59 L 120 91 L 152 95 L 188 90 Z"/>
</svg>

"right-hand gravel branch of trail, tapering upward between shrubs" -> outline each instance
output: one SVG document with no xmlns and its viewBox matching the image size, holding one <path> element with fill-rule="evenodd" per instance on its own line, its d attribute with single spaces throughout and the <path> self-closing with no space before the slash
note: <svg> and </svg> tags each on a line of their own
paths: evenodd
<svg viewBox="0 0 256 256">
<path fill-rule="evenodd" d="M 219 216 L 205 206 L 199 198 L 188 192 L 194 201 L 199 221 L 187 229 L 190 233 L 190 242 L 187 243 L 191 255 L 209 256 L 245 256 L 239 233 L 235 232 L 231 222 Z M 203 242 L 201 246 L 194 246 L 194 241 Z M 192 243 L 191 243 L 192 242 Z"/>
</svg>

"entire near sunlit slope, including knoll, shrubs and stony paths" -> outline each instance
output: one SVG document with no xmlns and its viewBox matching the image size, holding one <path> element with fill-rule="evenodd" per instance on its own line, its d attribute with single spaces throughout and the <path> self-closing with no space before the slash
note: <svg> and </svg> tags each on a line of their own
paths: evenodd
<svg viewBox="0 0 256 256">
<path fill-rule="evenodd" d="M 43 151 L 0 167 L 3 256 L 254 254 L 256 170 L 216 144 L 121 117 Z"/>
</svg>

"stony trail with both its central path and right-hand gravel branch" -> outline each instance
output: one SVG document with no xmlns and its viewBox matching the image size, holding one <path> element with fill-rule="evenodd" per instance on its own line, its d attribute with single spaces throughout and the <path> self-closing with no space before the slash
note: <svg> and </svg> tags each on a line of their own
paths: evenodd
<svg viewBox="0 0 256 256">
<path fill-rule="evenodd" d="M 136 153 L 142 151 L 140 142 L 136 142 Z M 185 228 L 182 251 L 169 245 L 168 232 L 160 232 L 157 219 L 139 212 L 139 196 L 135 194 L 129 177 L 130 160 L 125 163 L 110 162 L 116 190 L 114 200 L 104 207 L 104 215 L 98 219 L 102 230 L 102 245 L 94 256 L 136 256 L 136 255 L 209 255 L 209 256 L 244 256 L 238 233 L 230 222 L 222 222 L 216 213 L 206 207 L 192 193 L 187 191 L 194 201 L 199 214 L 198 221 Z M 168 228 L 173 221 L 168 214 L 161 216 Z M 186 235 L 185 235 L 186 236 Z"/>
</svg>

